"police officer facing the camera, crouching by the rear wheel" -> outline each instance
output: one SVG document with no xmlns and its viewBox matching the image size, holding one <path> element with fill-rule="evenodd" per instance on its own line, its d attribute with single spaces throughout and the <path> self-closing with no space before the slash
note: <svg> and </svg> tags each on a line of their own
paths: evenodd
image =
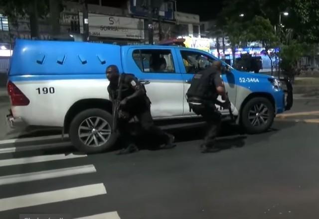
<svg viewBox="0 0 319 219">
<path fill-rule="evenodd" d="M 120 109 L 122 116 L 118 118 L 118 129 L 123 137 L 125 148 L 119 152 L 119 154 L 137 152 L 139 149 L 133 141 L 131 128 L 128 122 L 133 117 L 137 117 L 141 127 L 144 131 L 157 135 L 164 139 L 165 144 L 160 149 L 169 149 L 174 147 L 174 136 L 165 133 L 160 128 L 154 125 L 151 115 L 151 102 L 146 95 L 144 86 L 138 81 L 138 79 L 132 74 L 119 74 L 119 69 L 115 65 L 110 65 L 106 69 L 106 75 L 110 84 L 108 86 L 108 92 L 110 100 L 117 99 L 120 80 L 122 84 Z M 125 117 L 125 118 L 123 118 Z"/>
</svg>

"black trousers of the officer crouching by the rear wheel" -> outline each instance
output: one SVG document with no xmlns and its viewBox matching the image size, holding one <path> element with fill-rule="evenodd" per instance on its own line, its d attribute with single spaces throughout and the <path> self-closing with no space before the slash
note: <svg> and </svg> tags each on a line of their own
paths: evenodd
<svg viewBox="0 0 319 219">
<path fill-rule="evenodd" d="M 131 117 L 136 116 L 138 118 L 140 128 L 142 130 L 136 130 L 136 127 L 130 125 L 128 120 L 119 119 L 118 129 L 125 146 L 128 146 L 134 142 L 133 132 L 137 132 L 137 135 L 141 134 L 141 132 L 150 134 L 163 139 L 165 142 L 169 140 L 167 133 L 154 124 L 151 114 L 151 106 L 149 104 L 140 107 L 137 106 L 135 110 L 131 111 L 130 115 Z"/>
</svg>

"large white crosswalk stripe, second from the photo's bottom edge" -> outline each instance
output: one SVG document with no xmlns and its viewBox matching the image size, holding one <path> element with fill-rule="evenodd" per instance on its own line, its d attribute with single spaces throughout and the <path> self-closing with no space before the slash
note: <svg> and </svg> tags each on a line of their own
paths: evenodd
<svg viewBox="0 0 319 219">
<path fill-rule="evenodd" d="M 103 183 L 0 199 L 0 212 L 106 194 Z"/>
</svg>

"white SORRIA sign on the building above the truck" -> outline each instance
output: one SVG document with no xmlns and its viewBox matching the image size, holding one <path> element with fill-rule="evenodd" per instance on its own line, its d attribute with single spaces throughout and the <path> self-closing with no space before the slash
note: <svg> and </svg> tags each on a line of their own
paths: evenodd
<svg viewBox="0 0 319 219">
<path fill-rule="evenodd" d="M 83 33 L 83 13 L 79 12 Z M 144 39 L 144 20 L 89 13 L 89 35 L 124 39 Z"/>
</svg>

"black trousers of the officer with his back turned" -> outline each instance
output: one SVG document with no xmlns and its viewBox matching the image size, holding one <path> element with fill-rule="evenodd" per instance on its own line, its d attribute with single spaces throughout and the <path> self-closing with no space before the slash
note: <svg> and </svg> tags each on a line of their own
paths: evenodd
<svg viewBox="0 0 319 219">
<path fill-rule="evenodd" d="M 213 104 L 190 104 L 190 107 L 197 115 L 203 116 L 207 122 L 208 128 L 204 138 L 204 144 L 207 146 L 213 146 L 221 125 L 221 113 Z"/>
</svg>

